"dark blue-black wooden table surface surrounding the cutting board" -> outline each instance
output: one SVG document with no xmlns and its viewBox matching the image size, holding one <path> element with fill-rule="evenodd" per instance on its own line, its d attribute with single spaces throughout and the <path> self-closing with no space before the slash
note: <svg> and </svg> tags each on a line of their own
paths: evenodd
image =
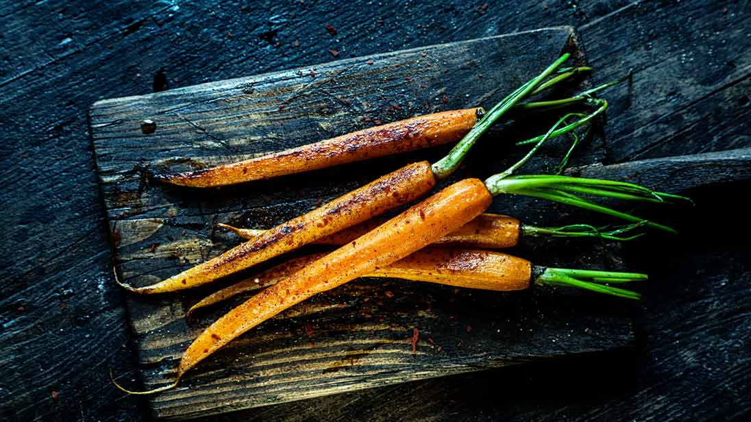
<svg viewBox="0 0 751 422">
<path fill-rule="evenodd" d="M 3 420 L 148 418 L 143 401 L 113 388 L 107 373 L 112 366 L 135 374 L 86 133 L 86 110 L 98 99 L 568 24 L 581 33 L 595 82 L 635 71 L 630 88 L 608 94 L 608 162 L 751 145 L 748 2 L 89 3 L 0 5 Z M 213 420 L 747 416 L 751 230 L 742 201 L 751 184 L 745 180 L 689 192 L 695 209 L 671 216 L 680 237 L 626 249 L 659 280 L 635 312 L 636 351 Z"/>
</svg>

